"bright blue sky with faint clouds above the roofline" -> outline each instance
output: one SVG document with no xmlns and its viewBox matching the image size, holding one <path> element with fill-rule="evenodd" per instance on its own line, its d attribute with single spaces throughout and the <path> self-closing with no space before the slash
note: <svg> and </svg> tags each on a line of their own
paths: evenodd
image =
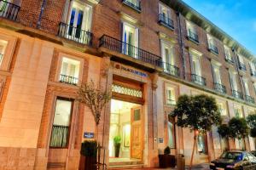
<svg viewBox="0 0 256 170">
<path fill-rule="evenodd" d="M 183 0 L 256 54 L 255 0 Z"/>
</svg>

